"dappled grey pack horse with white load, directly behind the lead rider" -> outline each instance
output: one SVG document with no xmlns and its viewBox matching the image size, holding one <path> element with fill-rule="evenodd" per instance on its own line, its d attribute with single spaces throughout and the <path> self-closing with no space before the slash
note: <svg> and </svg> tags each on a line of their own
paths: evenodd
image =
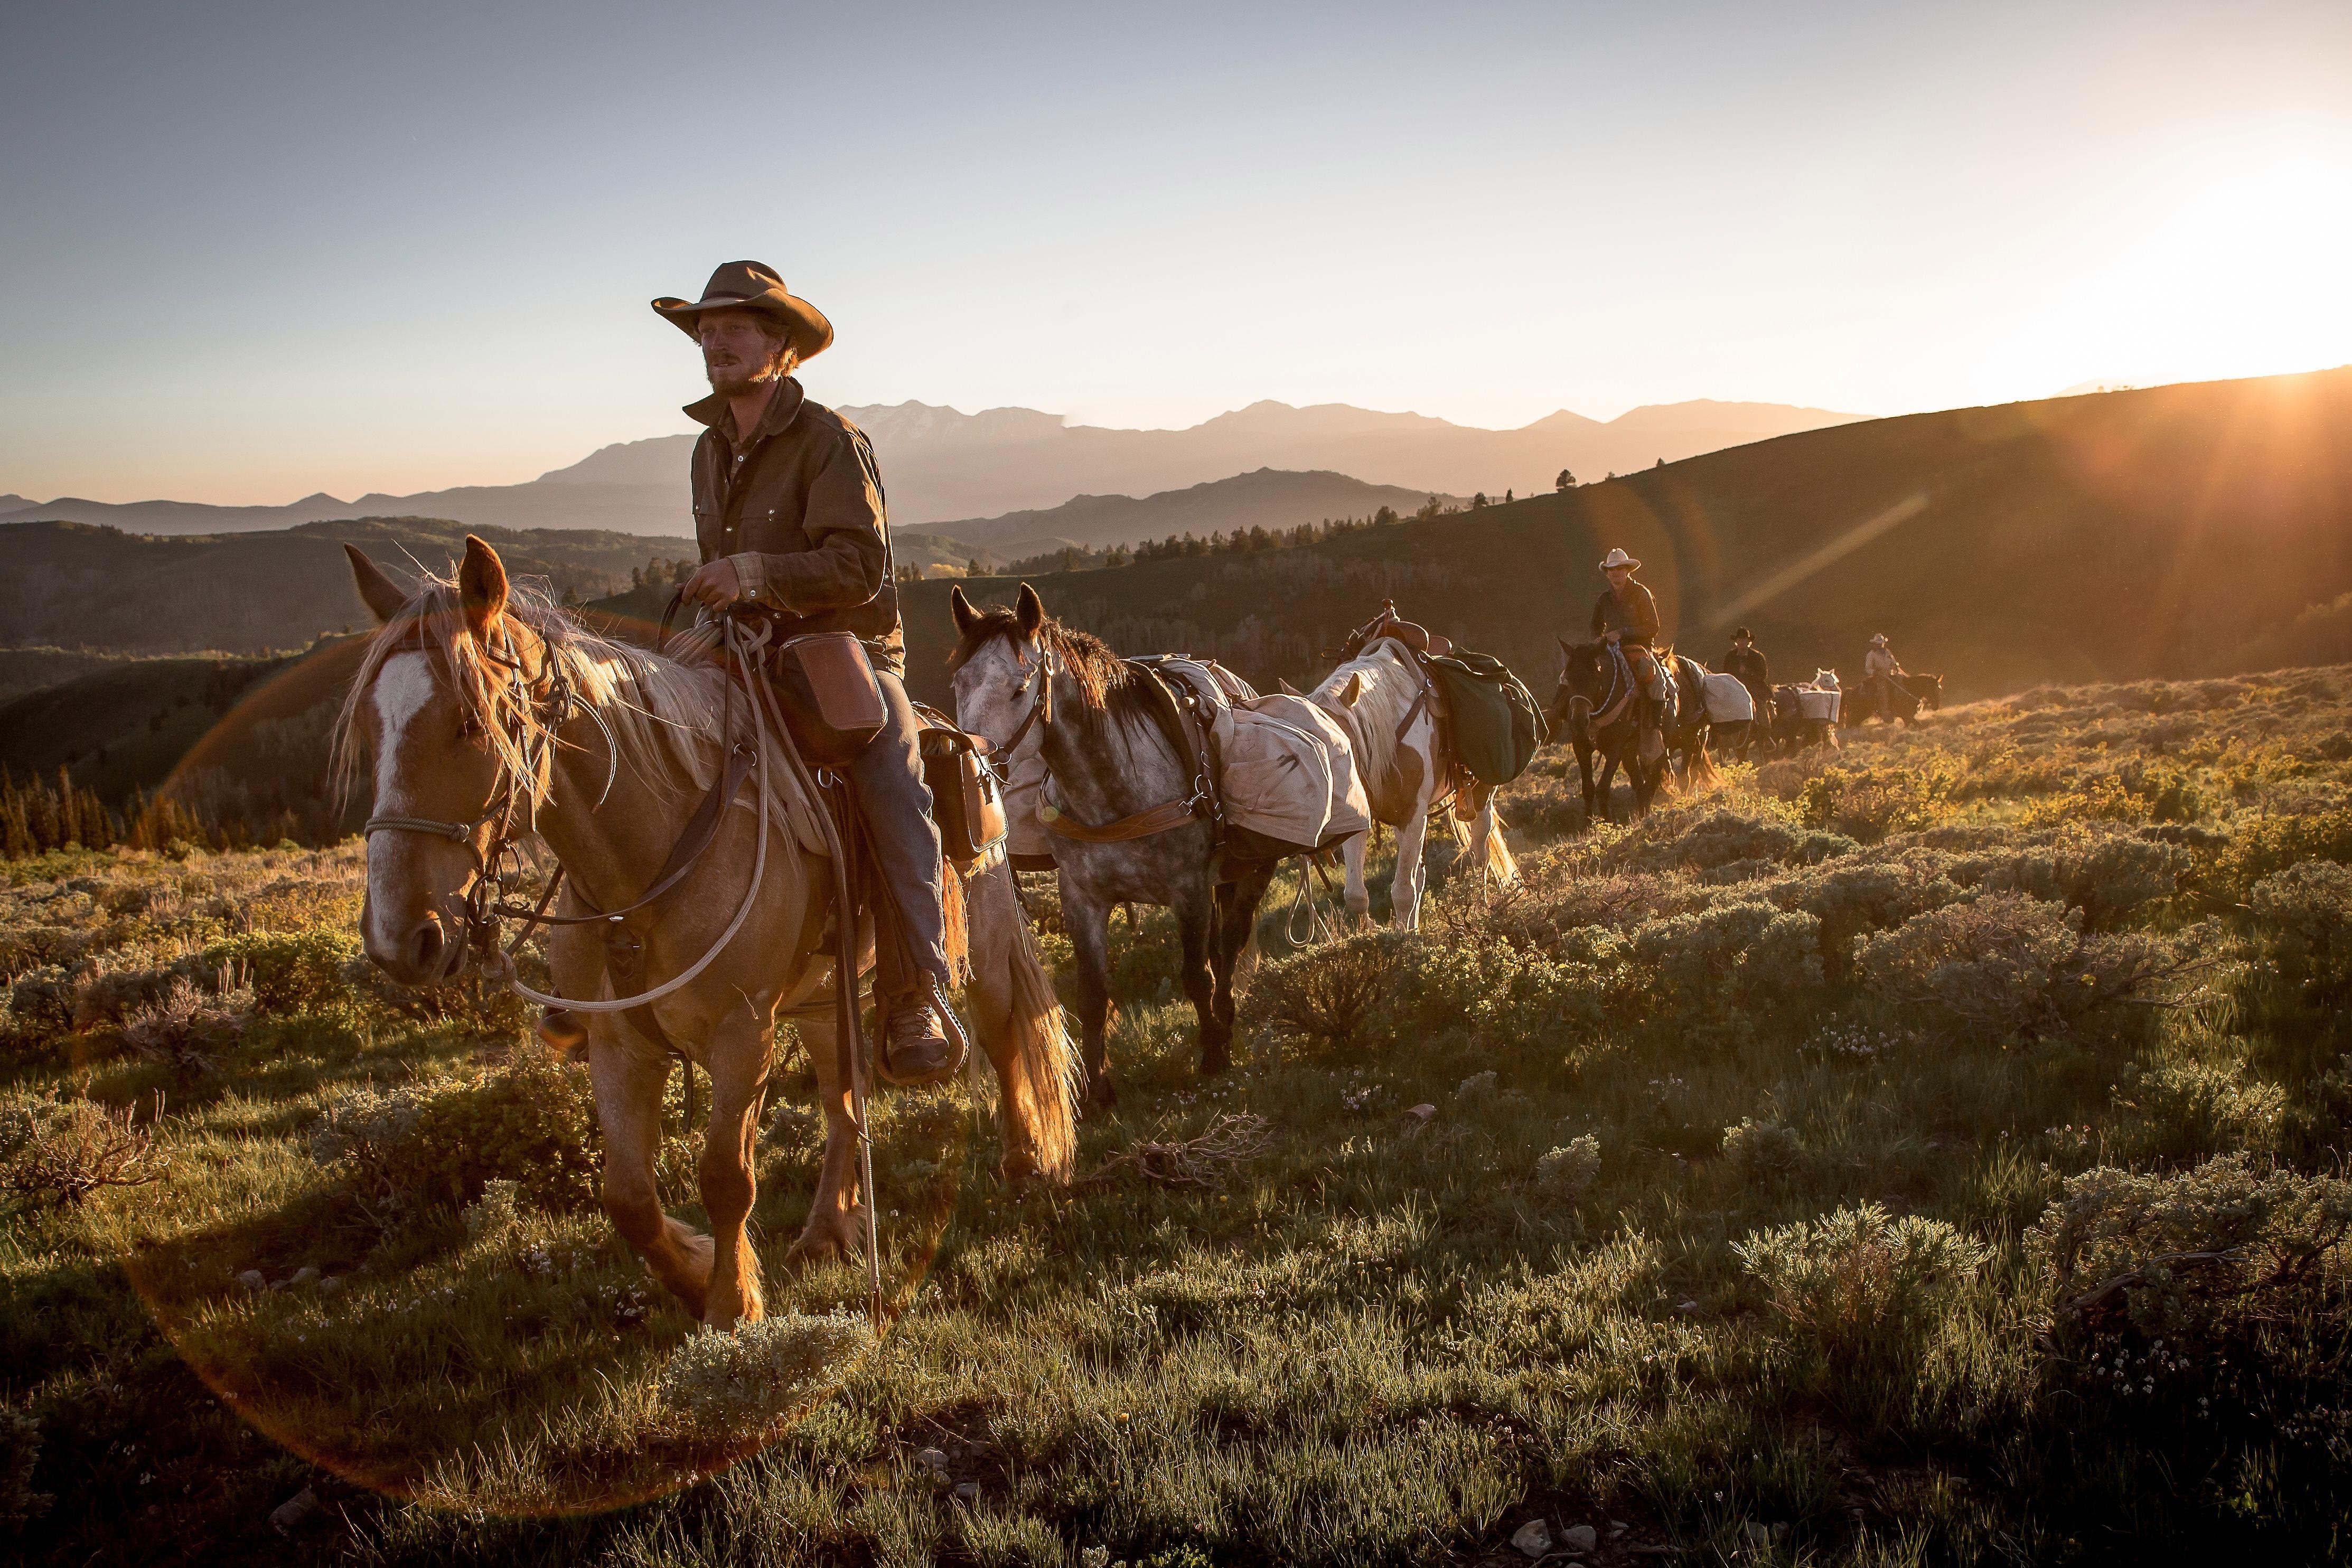
<svg viewBox="0 0 2352 1568">
<path fill-rule="evenodd" d="M 1030 743 L 1051 802 L 1040 816 L 1061 875 L 1061 914 L 1077 952 L 1077 1023 L 1087 1105 L 1117 1100 L 1105 1060 L 1110 910 L 1162 905 L 1183 940 L 1181 978 L 1200 1018 L 1200 1070 L 1232 1065 L 1232 966 L 1249 943 L 1275 860 L 1232 860 L 1218 846 L 1207 755 L 1188 755 L 1160 677 L 1087 632 L 1047 618 L 1028 583 L 1014 609 L 974 609 L 950 590 L 957 649 L 955 722 L 985 736 L 1007 766 Z"/>
</svg>

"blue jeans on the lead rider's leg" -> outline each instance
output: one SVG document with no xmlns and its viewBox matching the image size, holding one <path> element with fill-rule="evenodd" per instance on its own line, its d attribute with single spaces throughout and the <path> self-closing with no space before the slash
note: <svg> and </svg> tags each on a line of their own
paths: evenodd
<svg viewBox="0 0 2352 1568">
<path fill-rule="evenodd" d="M 887 997 L 906 997 L 922 973 L 948 985 L 946 912 L 941 900 L 938 825 L 931 820 L 931 788 L 922 780 L 922 755 L 915 745 L 922 722 L 906 701 L 906 684 L 889 670 L 875 670 L 882 686 L 882 733 L 849 764 L 849 783 L 866 818 L 866 851 L 880 870 L 880 889 L 868 886 L 868 900 L 882 891 L 898 912 L 898 940 L 891 922 L 875 919 L 875 978 Z"/>
</svg>

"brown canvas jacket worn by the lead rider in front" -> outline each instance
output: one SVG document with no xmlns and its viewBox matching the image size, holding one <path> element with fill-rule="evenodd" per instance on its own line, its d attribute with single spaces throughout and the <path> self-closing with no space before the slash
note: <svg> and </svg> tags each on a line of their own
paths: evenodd
<svg viewBox="0 0 2352 1568">
<path fill-rule="evenodd" d="M 882 475 L 866 433 L 786 376 L 748 442 L 720 395 L 687 404 L 694 442 L 694 538 L 729 557 L 743 597 L 776 618 L 776 639 L 851 632 L 880 668 L 906 675 Z"/>
</svg>

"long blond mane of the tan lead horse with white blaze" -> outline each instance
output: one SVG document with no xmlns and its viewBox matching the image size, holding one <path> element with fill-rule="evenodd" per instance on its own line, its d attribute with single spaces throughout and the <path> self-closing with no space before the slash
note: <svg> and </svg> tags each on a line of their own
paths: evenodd
<svg viewBox="0 0 2352 1568">
<path fill-rule="evenodd" d="M 602 719 L 623 766 L 649 780 L 689 788 L 703 788 L 717 776 L 727 677 L 715 665 L 682 665 L 600 637 L 567 616 L 536 583 L 508 585 L 506 616 L 539 635 L 548 668 Z M 555 755 L 546 715 L 539 703 L 517 693 L 515 672 L 470 632 L 456 583 L 430 571 L 416 595 L 369 637 L 360 672 L 343 696 L 334 724 L 334 773 L 346 795 L 360 773 L 360 698 L 383 661 L 412 649 L 435 658 L 456 682 L 459 701 L 480 724 L 503 776 L 520 780 L 532 806 L 546 802 Z"/>
</svg>

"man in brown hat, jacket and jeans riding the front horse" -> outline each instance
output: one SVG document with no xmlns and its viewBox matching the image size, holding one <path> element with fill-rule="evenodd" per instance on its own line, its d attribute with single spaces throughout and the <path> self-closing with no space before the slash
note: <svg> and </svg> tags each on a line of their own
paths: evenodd
<svg viewBox="0 0 2352 1568">
<path fill-rule="evenodd" d="M 901 1084 L 938 1081 L 957 1060 L 941 1023 L 946 889 L 917 752 L 922 724 L 903 684 L 882 475 L 866 433 L 793 378 L 833 343 L 833 322 L 760 261 L 729 261 L 701 299 L 656 299 L 654 310 L 701 346 L 710 381 L 710 397 L 687 404 L 703 425 L 689 470 L 703 564 L 684 599 L 769 621 L 771 644 L 851 632 L 882 689 L 882 731 L 847 769 L 889 891 L 875 922 L 875 983 L 889 1016 L 882 1067 Z M 543 1030 L 553 1039 L 567 1023 L 550 1016 Z"/>
</svg>

